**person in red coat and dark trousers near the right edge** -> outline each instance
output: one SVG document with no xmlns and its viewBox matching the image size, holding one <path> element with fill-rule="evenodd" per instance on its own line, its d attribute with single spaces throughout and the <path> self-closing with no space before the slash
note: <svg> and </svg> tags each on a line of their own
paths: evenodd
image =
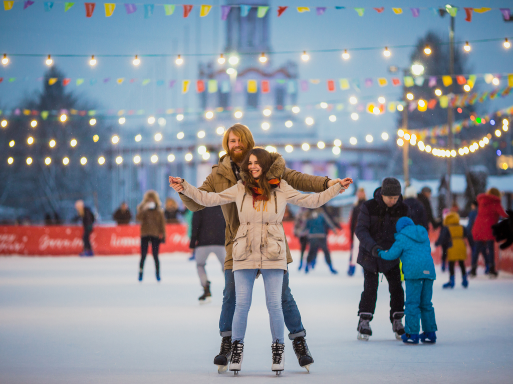
<svg viewBox="0 0 513 384">
<path fill-rule="evenodd" d="M 500 217 L 507 217 L 507 214 L 502 208 L 501 193 L 497 188 L 490 188 L 486 194 L 479 194 L 477 200 L 478 216 L 472 227 L 475 244 L 472 250 L 472 269 L 469 274 L 476 276 L 479 253 L 482 253 L 486 262 L 486 271 L 497 276 L 494 234 L 491 226 L 496 224 Z"/>
</svg>

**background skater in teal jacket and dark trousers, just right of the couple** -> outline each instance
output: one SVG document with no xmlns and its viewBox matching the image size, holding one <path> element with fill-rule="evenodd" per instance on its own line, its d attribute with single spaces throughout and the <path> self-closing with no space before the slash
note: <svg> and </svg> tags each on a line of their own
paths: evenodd
<svg viewBox="0 0 513 384">
<path fill-rule="evenodd" d="M 324 252 L 324 260 L 326 260 L 326 264 L 328 265 L 331 273 L 338 273 L 331 265 L 331 257 L 328 249 L 327 238 L 330 229 L 334 233 L 338 233 L 340 226 L 333 223 L 331 218 L 322 208 L 318 208 L 310 212 L 310 216 L 305 223 L 305 232 L 307 233 L 309 247 L 308 256 L 306 258 L 305 273 L 308 273 L 308 270 L 313 269 L 315 266 L 315 260 L 317 259 L 319 248 Z"/>
</svg>

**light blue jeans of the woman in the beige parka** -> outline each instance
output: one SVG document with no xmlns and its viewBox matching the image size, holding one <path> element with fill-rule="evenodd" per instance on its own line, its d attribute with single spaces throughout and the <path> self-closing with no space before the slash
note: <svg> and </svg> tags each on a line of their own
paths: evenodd
<svg viewBox="0 0 513 384">
<path fill-rule="evenodd" d="M 236 304 L 232 323 L 232 340 L 244 343 L 248 312 L 251 307 L 253 284 L 258 269 L 239 269 L 233 272 L 235 278 Z M 283 344 L 283 311 L 281 302 L 281 288 L 283 286 L 283 269 L 261 269 L 265 287 L 265 302 L 269 311 L 272 342 L 278 340 Z"/>
</svg>

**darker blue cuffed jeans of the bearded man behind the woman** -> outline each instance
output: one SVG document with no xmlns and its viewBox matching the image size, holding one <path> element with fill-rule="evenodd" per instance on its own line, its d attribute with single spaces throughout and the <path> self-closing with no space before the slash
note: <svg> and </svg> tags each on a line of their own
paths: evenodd
<svg viewBox="0 0 513 384">
<path fill-rule="evenodd" d="M 282 286 L 282 311 L 285 326 L 289 330 L 289 339 L 298 336 L 306 336 L 306 331 L 301 322 L 301 313 L 288 286 L 289 274 L 283 275 Z M 222 337 L 231 336 L 233 313 L 235 312 L 235 279 L 231 269 L 225 269 L 225 289 L 223 291 L 223 306 L 219 318 L 219 333 Z"/>
</svg>

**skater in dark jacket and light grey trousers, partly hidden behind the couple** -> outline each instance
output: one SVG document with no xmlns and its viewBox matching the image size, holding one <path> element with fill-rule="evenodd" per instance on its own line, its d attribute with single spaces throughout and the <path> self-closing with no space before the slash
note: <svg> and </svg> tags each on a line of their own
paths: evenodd
<svg viewBox="0 0 513 384">
<path fill-rule="evenodd" d="M 198 298 L 200 303 L 205 303 L 210 298 L 210 282 L 207 278 L 205 265 L 210 253 L 213 253 L 221 263 L 221 271 L 224 271 L 226 249 L 224 247 L 226 223 L 220 206 L 206 207 L 195 211 L 192 215 L 192 230 L 189 247 L 194 250 L 196 268 L 203 287 L 203 294 Z"/>
</svg>

